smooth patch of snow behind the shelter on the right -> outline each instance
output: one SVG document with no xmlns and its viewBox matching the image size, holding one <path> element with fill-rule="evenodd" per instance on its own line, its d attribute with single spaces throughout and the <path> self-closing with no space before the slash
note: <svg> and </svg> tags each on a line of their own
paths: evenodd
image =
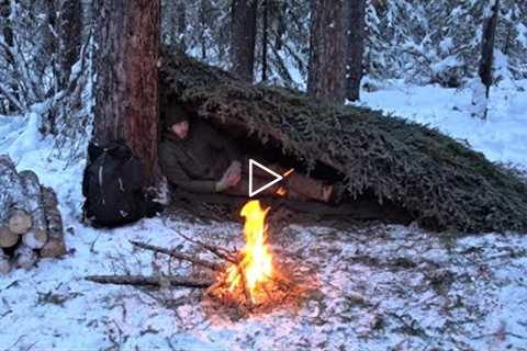
<svg viewBox="0 0 527 351">
<path fill-rule="evenodd" d="M 492 161 L 527 169 L 527 80 L 493 86 L 486 121 L 471 116 L 471 99 L 470 87 L 459 90 L 392 81 L 380 91 L 362 91 L 359 104 L 438 128 L 467 140 Z"/>
</svg>

